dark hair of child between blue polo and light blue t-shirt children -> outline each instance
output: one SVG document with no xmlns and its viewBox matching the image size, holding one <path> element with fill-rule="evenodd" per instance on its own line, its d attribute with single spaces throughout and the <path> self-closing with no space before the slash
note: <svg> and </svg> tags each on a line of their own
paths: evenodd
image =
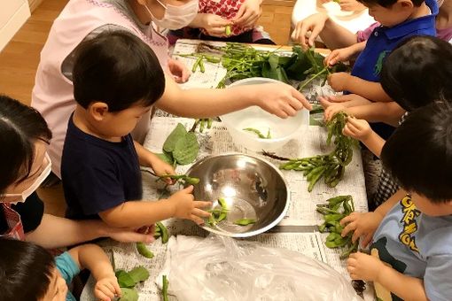
<svg viewBox="0 0 452 301">
<path fill-rule="evenodd" d="M 433 36 L 401 42 L 385 59 L 381 86 L 406 111 L 452 99 L 452 45 Z"/>
</svg>

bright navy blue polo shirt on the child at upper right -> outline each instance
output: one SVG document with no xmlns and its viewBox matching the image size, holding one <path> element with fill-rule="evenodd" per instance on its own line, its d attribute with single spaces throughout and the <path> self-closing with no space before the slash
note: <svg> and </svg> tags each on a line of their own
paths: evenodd
<svg viewBox="0 0 452 301">
<path fill-rule="evenodd" d="M 408 19 L 394 27 L 376 27 L 367 40 L 366 47 L 356 58 L 352 75 L 366 81 L 380 81 L 383 61 L 395 46 L 413 35 L 436 35 L 435 18 L 438 14 L 436 0 L 426 0 L 430 15 L 417 19 Z"/>
</svg>

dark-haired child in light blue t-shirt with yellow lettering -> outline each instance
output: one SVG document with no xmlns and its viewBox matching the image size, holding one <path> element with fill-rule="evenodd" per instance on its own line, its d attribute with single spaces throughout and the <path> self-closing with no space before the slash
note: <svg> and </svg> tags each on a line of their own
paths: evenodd
<svg viewBox="0 0 452 301">
<path fill-rule="evenodd" d="M 375 282 L 381 300 L 452 296 L 451 133 L 450 104 L 437 102 L 411 112 L 381 154 L 407 194 L 378 212 L 343 220 L 348 224 L 342 235 L 355 230 L 356 236 L 368 236 L 378 227 L 371 255 L 351 255 L 347 270 L 352 279 Z"/>
</svg>

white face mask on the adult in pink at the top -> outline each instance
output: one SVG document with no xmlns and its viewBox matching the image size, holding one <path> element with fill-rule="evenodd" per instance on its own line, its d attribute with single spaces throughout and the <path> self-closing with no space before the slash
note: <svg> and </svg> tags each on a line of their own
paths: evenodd
<svg viewBox="0 0 452 301">
<path fill-rule="evenodd" d="M 160 0 L 157 2 L 165 8 L 165 15 L 162 19 L 157 19 L 152 14 L 149 7 L 144 4 L 144 8 L 152 17 L 152 22 L 158 27 L 168 28 L 171 30 L 180 29 L 188 26 L 198 14 L 199 0 L 191 0 L 190 2 L 175 6 L 171 4 L 162 4 Z"/>
</svg>

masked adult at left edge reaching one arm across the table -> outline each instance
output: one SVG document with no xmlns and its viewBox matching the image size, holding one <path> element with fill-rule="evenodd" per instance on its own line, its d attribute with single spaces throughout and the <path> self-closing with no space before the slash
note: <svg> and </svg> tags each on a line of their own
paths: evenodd
<svg viewBox="0 0 452 301">
<path fill-rule="evenodd" d="M 125 228 L 109 228 L 101 220 L 67 220 L 43 213 L 35 189 L 51 173 L 47 147 L 51 131 L 34 109 L 0 96 L 0 237 L 58 248 L 110 236 L 121 242 L 151 242 Z"/>
</svg>

